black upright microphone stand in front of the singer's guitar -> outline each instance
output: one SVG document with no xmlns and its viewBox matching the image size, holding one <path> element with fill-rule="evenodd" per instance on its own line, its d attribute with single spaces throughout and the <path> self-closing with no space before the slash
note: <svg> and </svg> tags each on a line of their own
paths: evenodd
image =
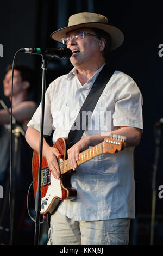
<svg viewBox="0 0 163 256">
<path fill-rule="evenodd" d="M 40 233 L 40 211 L 41 211 L 41 169 L 42 169 L 42 145 L 43 145 L 43 123 L 45 111 L 45 90 L 46 90 L 46 75 L 47 75 L 47 62 L 50 58 L 42 56 L 42 95 L 41 95 L 41 123 L 40 123 L 40 146 L 39 146 L 39 169 L 37 191 L 35 199 L 35 236 L 34 245 L 39 245 Z"/>
</svg>

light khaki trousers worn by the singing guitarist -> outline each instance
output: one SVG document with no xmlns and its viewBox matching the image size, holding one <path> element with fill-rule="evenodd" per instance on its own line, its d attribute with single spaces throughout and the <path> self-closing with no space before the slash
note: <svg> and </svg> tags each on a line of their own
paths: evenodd
<svg viewBox="0 0 163 256">
<path fill-rule="evenodd" d="M 128 245 L 130 218 L 74 221 L 56 211 L 47 245 Z"/>
</svg>

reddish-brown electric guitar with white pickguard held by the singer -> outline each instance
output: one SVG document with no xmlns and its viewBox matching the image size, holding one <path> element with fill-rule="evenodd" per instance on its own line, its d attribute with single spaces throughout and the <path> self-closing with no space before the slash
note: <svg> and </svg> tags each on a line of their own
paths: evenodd
<svg viewBox="0 0 163 256">
<path fill-rule="evenodd" d="M 78 166 L 100 154 L 114 154 L 120 150 L 123 150 L 125 146 L 125 140 L 126 137 L 120 135 L 112 135 L 109 138 L 105 138 L 103 142 L 99 143 L 95 147 L 79 153 L 79 160 L 77 161 Z M 53 145 L 53 147 L 57 148 L 61 154 L 61 158 L 58 161 L 61 173 L 60 180 L 54 178 L 54 176 L 51 174 L 51 170 L 48 167 L 46 158 L 42 156 L 40 214 L 46 214 L 47 212 L 52 213 L 55 209 L 57 209 L 59 203 L 62 200 L 73 200 L 77 196 L 77 191 L 71 186 L 71 176 L 75 172 L 71 169 L 67 159 L 66 143 L 67 141 L 64 138 L 59 138 Z M 37 191 L 38 169 L 39 153 L 34 151 L 32 159 L 32 170 L 35 199 Z"/>
</svg>

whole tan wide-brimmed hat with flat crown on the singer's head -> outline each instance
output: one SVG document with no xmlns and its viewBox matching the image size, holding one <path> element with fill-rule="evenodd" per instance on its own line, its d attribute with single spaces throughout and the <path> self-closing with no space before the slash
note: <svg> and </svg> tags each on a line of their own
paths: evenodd
<svg viewBox="0 0 163 256">
<path fill-rule="evenodd" d="M 62 43 L 62 38 L 67 36 L 66 33 L 83 27 L 98 28 L 107 32 L 112 40 L 111 50 L 115 50 L 123 44 L 124 34 L 119 28 L 109 24 L 108 19 L 101 14 L 86 12 L 70 16 L 68 26 L 54 31 L 51 38 Z"/>
</svg>

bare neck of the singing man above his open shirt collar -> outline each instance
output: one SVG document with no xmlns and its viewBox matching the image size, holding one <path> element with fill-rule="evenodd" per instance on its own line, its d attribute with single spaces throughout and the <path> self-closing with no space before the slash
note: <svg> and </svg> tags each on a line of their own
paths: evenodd
<svg viewBox="0 0 163 256">
<path fill-rule="evenodd" d="M 94 65 L 89 66 L 76 66 L 77 75 L 80 83 L 85 84 L 101 66 L 105 63 L 105 60 L 99 63 L 95 63 Z"/>
</svg>

